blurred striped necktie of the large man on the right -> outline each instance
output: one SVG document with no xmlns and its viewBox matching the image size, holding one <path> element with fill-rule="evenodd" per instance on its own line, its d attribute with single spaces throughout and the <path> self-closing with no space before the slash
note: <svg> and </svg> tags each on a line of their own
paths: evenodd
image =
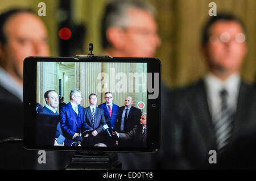
<svg viewBox="0 0 256 181">
<path fill-rule="evenodd" d="M 219 153 L 228 145 L 233 129 L 234 111 L 228 107 L 228 92 L 225 89 L 220 91 L 221 111 L 215 117 L 214 129 Z"/>
</svg>

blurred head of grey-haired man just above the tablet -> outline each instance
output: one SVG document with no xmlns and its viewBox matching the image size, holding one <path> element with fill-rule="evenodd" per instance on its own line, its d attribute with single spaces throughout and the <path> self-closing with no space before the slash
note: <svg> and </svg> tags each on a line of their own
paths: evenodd
<svg viewBox="0 0 256 181">
<path fill-rule="evenodd" d="M 102 19 L 102 47 L 112 57 L 154 57 L 160 45 L 155 9 L 141 1 L 113 1 Z"/>
</svg>

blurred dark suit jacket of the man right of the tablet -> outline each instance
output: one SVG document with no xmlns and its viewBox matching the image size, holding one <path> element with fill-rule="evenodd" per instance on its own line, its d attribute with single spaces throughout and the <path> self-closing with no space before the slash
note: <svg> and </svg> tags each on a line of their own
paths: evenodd
<svg viewBox="0 0 256 181">
<path fill-rule="evenodd" d="M 224 153 L 217 155 L 217 164 L 208 162 L 209 150 L 217 150 L 217 144 L 203 79 L 184 89 L 175 90 L 172 98 L 175 110 L 169 124 L 174 129 L 164 123 L 166 126 L 163 129 L 166 130 L 163 130 L 161 159 L 163 169 L 241 168 L 247 163 L 244 159 L 236 159 L 238 154 L 254 157 L 251 166 L 256 165 L 256 152 L 250 151 L 255 143 L 253 141 L 256 140 L 256 101 L 253 86 L 241 82 L 232 137 Z M 247 150 L 250 155 L 246 155 L 243 150 Z"/>
</svg>

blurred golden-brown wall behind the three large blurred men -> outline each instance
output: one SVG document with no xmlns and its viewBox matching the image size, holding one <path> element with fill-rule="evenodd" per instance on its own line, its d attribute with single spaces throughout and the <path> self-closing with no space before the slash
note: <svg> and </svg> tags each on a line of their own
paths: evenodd
<svg viewBox="0 0 256 181">
<path fill-rule="evenodd" d="M 39 2 L 46 3 L 46 16 L 41 16 L 49 32 L 52 56 L 88 54 L 88 43 L 94 53 L 102 54 L 100 20 L 107 0 L 1 0 L 0 13 L 12 7 L 30 7 L 36 12 Z M 209 18 L 210 2 L 218 12 L 232 12 L 245 22 L 248 53 L 242 67 L 242 77 L 253 82 L 256 69 L 256 1 L 255 0 L 149 0 L 158 11 L 156 22 L 162 45 L 156 57 L 162 61 L 163 81 L 169 87 L 196 81 L 205 71 L 200 52 L 201 26 Z M 61 40 L 59 30 L 68 27 L 71 39 Z"/>
</svg>

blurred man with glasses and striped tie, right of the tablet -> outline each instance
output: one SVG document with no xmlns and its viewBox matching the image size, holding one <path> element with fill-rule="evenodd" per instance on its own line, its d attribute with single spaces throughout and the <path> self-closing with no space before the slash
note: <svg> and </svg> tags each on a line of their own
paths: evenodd
<svg viewBox="0 0 256 181">
<path fill-rule="evenodd" d="M 175 131 L 166 132 L 169 135 L 164 137 L 175 141 L 171 144 L 166 139 L 163 144 L 163 167 L 241 168 L 235 161 L 236 149 L 242 144 L 241 138 L 246 140 L 256 130 L 255 91 L 240 75 L 247 51 L 243 23 L 233 15 L 212 16 L 204 27 L 202 40 L 208 73 L 193 85 L 174 92 Z M 176 161 L 168 159 L 174 147 L 172 158 Z M 216 151 L 216 164 L 209 161 L 210 150 Z M 226 159 L 231 154 L 233 157 Z M 175 167 L 168 167 L 171 162 Z"/>
</svg>

